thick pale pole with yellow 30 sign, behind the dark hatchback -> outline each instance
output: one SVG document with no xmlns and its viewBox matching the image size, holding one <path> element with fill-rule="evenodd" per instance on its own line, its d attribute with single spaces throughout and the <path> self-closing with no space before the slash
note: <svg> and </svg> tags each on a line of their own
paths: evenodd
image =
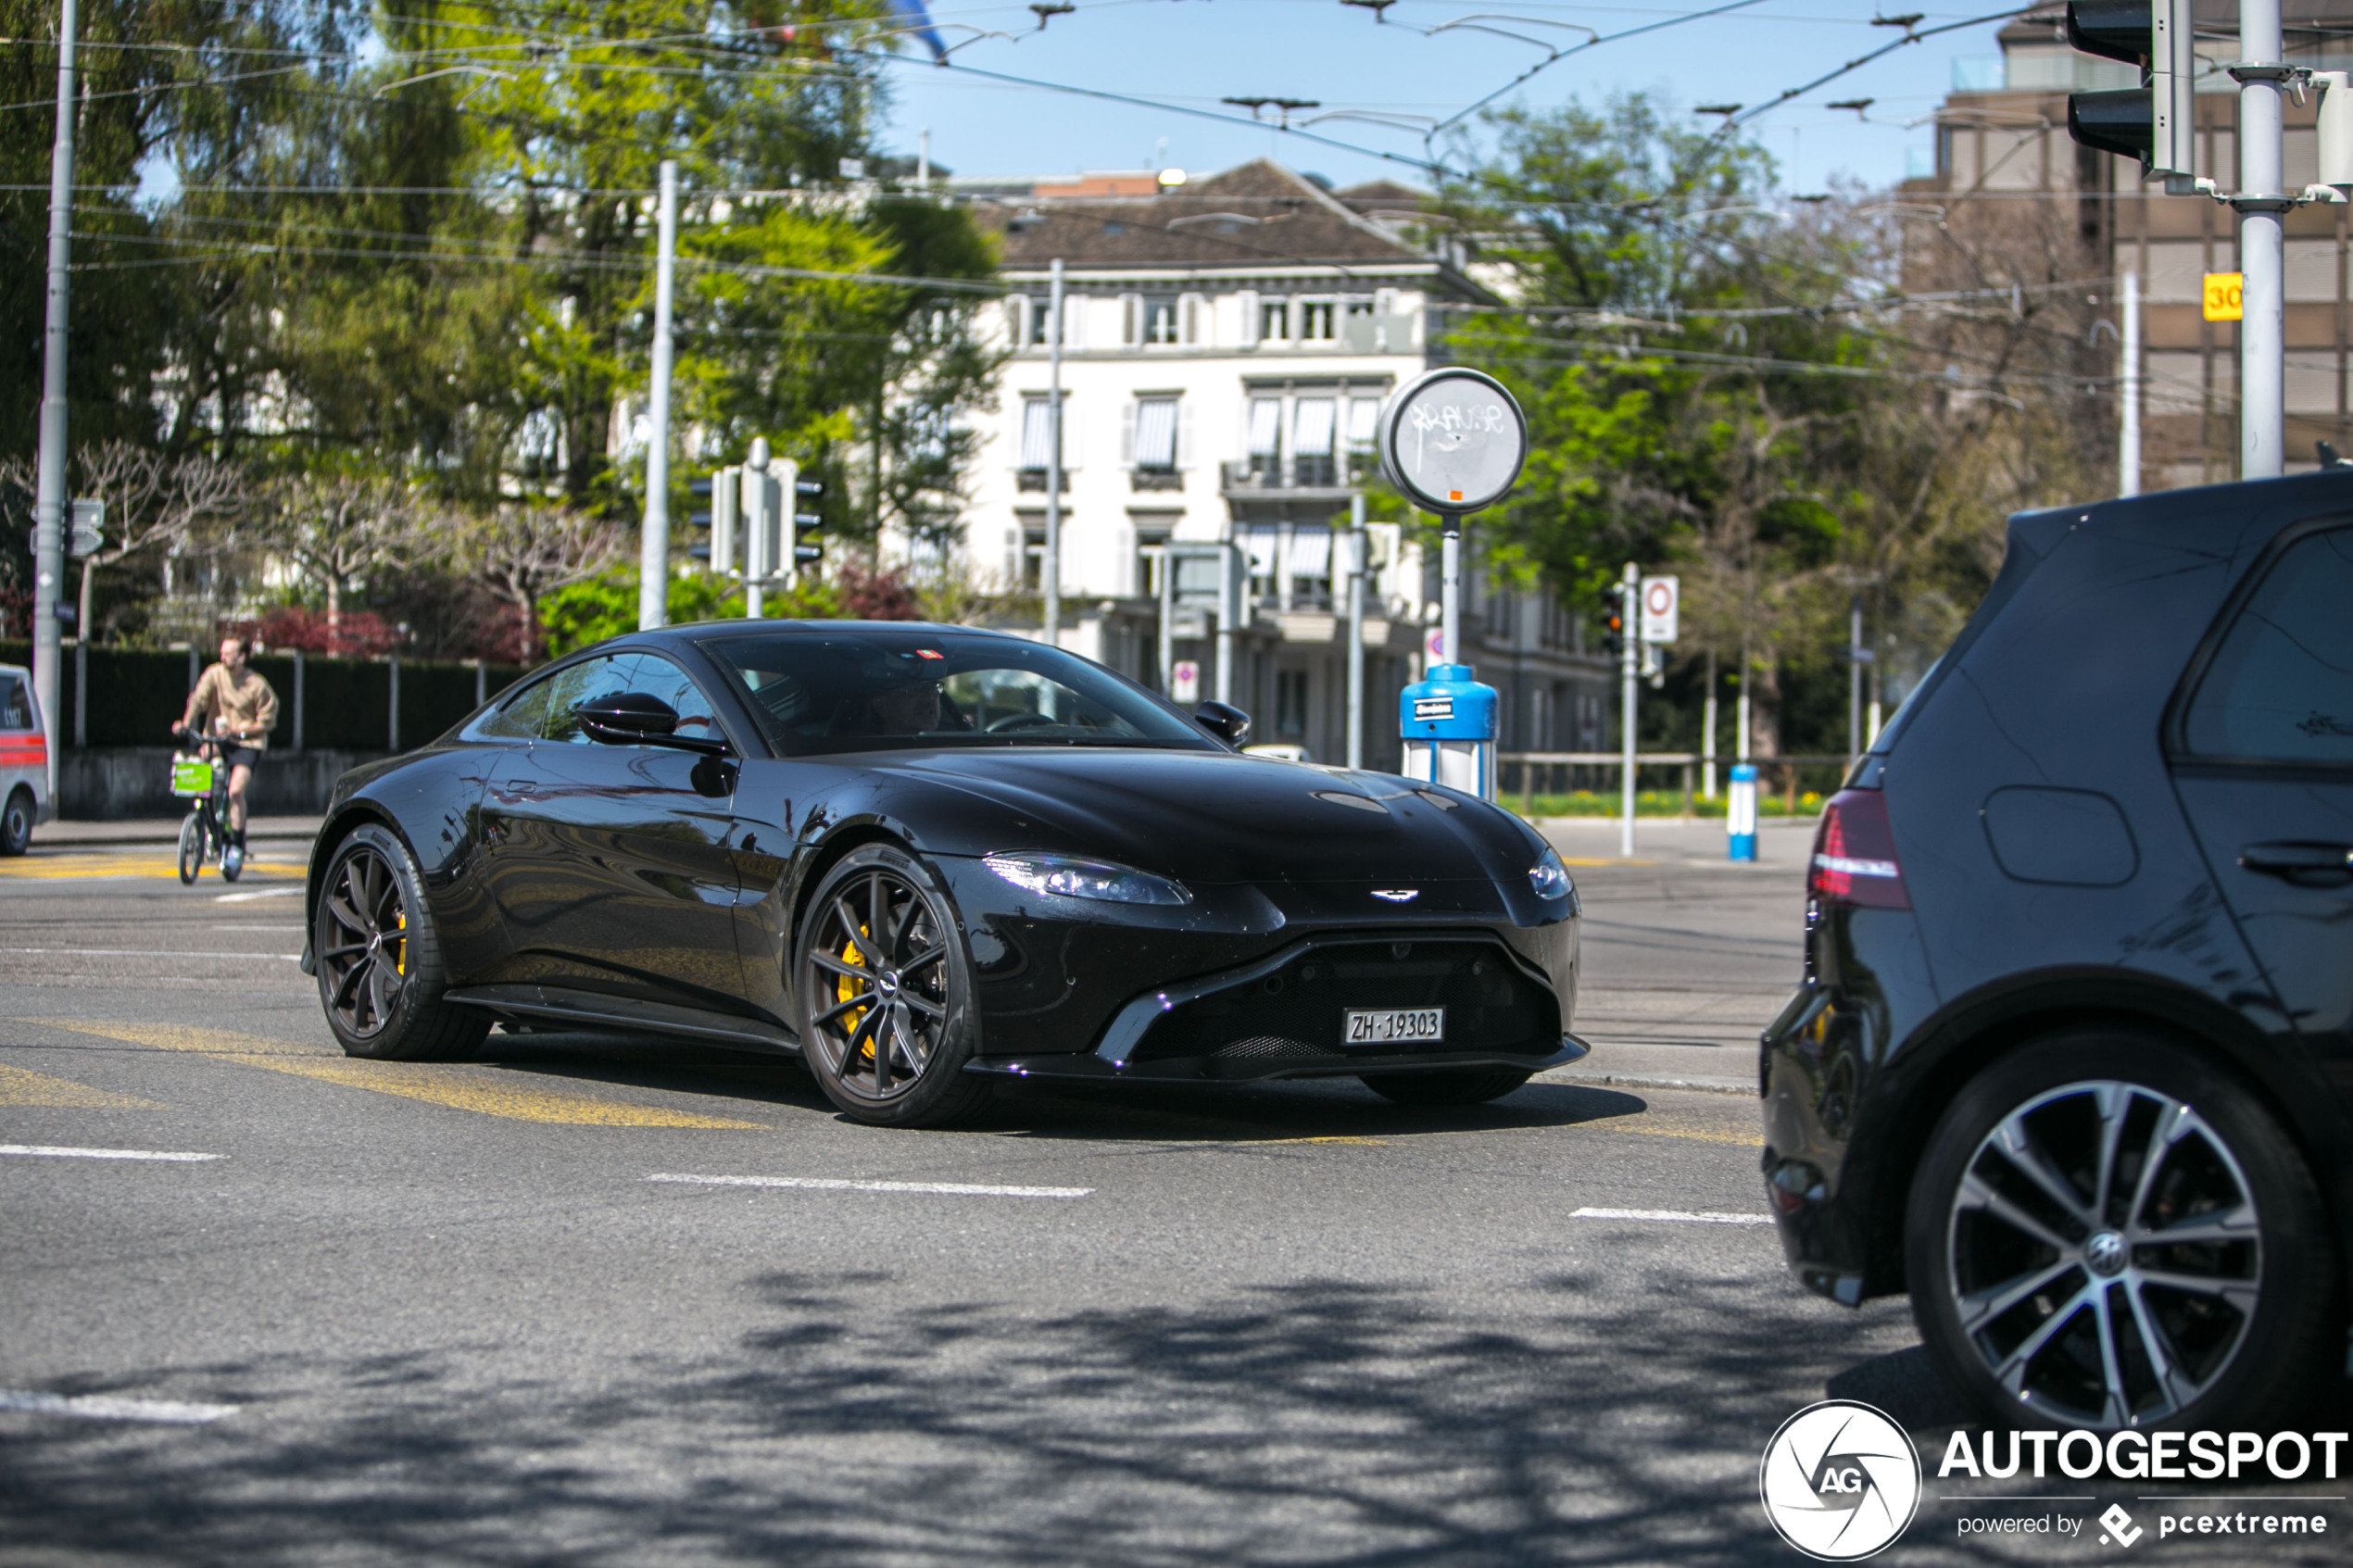
<svg viewBox="0 0 2353 1568">
<path fill-rule="evenodd" d="M 2282 214 L 2294 197 L 2280 188 L 2280 85 L 2289 75 L 2280 38 L 2280 0 L 2238 7 L 2238 270 L 2245 317 L 2238 324 L 2238 475 L 2285 473 L 2287 454 L 2287 303 L 2280 247 Z"/>
</svg>

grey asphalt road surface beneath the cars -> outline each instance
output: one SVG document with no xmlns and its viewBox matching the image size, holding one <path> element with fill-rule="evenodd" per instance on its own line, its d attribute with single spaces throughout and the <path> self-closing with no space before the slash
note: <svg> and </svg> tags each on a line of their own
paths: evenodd
<svg viewBox="0 0 2353 1568">
<path fill-rule="evenodd" d="M 1565 1074 L 1024 1088 L 951 1133 L 692 1046 L 351 1063 L 299 844 L 235 889 L 0 863 L 0 1563 L 1802 1561 L 1781 1420 L 1868 1399 L 1932 1460 L 1955 1420 L 1908 1307 L 1805 1295 L 1762 1225 L 1802 830 L 1555 837 Z M 2066 1556 L 1927 1495 L 1885 1561 Z"/>
</svg>

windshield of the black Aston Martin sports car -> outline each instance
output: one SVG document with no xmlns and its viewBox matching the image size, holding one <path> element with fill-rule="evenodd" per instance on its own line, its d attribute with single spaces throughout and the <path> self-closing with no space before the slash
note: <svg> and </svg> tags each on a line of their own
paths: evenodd
<svg viewBox="0 0 2353 1568">
<path fill-rule="evenodd" d="M 1059 649 L 946 630 L 704 637 L 779 757 L 932 745 L 1217 750 L 1151 693 Z"/>
</svg>

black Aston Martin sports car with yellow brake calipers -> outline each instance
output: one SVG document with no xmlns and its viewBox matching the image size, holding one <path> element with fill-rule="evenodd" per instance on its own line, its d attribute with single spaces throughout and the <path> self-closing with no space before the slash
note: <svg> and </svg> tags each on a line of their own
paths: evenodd
<svg viewBox="0 0 2353 1568">
<path fill-rule="evenodd" d="M 1247 724 L 969 628 L 621 637 L 344 776 L 304 969 L 353 1056 L 649 1030 L 798 1053 L 904 1126 L 1005 1077 L 1353 1074 L 1428 1105 L 1584 1056 L 1544 839 L 1238 755 Z"/>
</svg>

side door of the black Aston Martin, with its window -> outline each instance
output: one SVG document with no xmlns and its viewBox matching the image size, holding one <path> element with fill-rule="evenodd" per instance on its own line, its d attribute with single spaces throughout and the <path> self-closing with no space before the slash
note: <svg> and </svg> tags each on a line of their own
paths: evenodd
<svg viewBox="0 0 2353 1568">
<path fill-rule="evenodd" d="M 736 771 L 694 752 L 591 741 L 572 710 L 640 691 L 678 710 L 678 733 L 718 736 L 711 701 L 659 654 L 558 670 L 529 745 L 482 799 L 492 886 L 508 929 L 504 980 L 744 1011 L 736 957 Z"/>
</svg>

